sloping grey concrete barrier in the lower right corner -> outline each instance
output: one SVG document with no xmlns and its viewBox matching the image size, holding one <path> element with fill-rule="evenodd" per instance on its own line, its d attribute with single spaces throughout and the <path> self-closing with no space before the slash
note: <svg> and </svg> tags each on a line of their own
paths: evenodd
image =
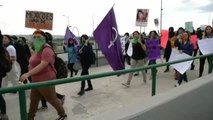
<svg viewBox="0 0 213 120">
<path fill-rule="evenodd" d="M 91 120 L 213 120 L 213 74 Z"/>
</svg>

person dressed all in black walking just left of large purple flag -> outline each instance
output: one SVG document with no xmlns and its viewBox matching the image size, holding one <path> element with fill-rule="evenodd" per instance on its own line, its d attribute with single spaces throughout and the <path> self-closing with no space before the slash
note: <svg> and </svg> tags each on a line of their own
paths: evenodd
<svg viewBox="0 0 213 120">
<path fill-rule="evenodd" d="M 83 34 L 80 38 L 80 49 L 78 51 L 80 57 L 80 63 L 82 66 L 81 76 L 89 75 L 89 68 L 94 63 L 92 45 L 89 43 L 89 37 L 86 34 Z M 85 80 L 81 81 L 81 89 L 78 92 L 78 95 L 82 96 L 85 94 L 85 91 L 93 90 L 91 80 L 87 80 L 88 88 L 85 89 Z"/>
</svg>

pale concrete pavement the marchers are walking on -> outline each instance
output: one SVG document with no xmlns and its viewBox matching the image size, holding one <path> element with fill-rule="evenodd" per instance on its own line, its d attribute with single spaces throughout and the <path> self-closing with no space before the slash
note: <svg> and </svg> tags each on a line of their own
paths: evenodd
<svg viewBox="0 0 213 120">
<path fill-rule="evenodd" d="M 160 61 L 157 61 L 160 63 Z M 198 60 L 195 61 L 195 70 L 187 71 L 188 80 L 198 78 Z M 207 65 L 207 64 L 206 64 Z M 175 89 L 174 70 L 164 73 L 165 67 L 158 68 L 156 94 L 160 94 L 171 89 Z M 90 74 L 108 72 L 112 69 L 109 66 L 93 67 Z M 79 73 L 80 74 L 80 73 Z M 79 76 L 78 74 L 78 76 Z M 207 74 L 205 66 L 204 75 Z M 150 71 L 147 78 L 150 77 Z M 142 76 L 133 77 L 131 87 L 125 88 L 121 83 L 126 82 L 127 74 L 120 77 L 111 76 L 92 80 L 94 90 L 87 92 L 79 97 L 77 92 L 80 89 L 80 82 L 64 84 L 57 86 L 57 92 L 66 95 L 64 108 L 68 114 L 68 120 L 88 120 L 91 117 L 110 110 L 133 105 L 139 101 L 147 101 L 151 97 L 151 80 L 145 84 L 142 82 Z M 5 94 L 7 111 L 10 120 L 19 120 L 19 102 L 17 94 Z M 29 107 L 29 98 L 27 97 Z M 56 111 L 52 106 L 43 112 L 37 112 L 36 120 L 54 120 L 57 118 Z"/>
</svg>

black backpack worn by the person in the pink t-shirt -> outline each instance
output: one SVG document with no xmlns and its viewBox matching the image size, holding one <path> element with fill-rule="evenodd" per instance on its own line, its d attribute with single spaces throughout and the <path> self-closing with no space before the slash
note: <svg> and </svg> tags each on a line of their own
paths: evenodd
<svg viewBox="0 0 213 120">
<path fill-rule="evenodd" d="M 45 47 L 49 47 L 52 49 L 52 47 L 48 46 L 48 45 L 45 45 Z M 43 48 L 43 49 L 44 49 Z M 53 49 L 52 49 L 53 50 Z M 54 52 L 54 50 L 53 50 Z M 54 52 L 55 53 L 55 52 Z M 54 67 L 55 67 L 55 70 L 56 70 L 56 78 L 57 79 L 61 79 L 61 78 L 67 78 L 68 76 L 68 70 L 67 70 L 67 65 L 66 63 L 64 62 L 63 59 L 61 59 L 60 57 L 58 57 L 55 53 L 55 63 L 54 63 Z"/>
</svg>

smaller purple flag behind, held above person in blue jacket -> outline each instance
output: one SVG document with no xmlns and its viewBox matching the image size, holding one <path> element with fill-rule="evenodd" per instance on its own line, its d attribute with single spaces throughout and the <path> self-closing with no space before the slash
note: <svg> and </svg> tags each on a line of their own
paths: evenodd
<svg viewBox="0 0 213 120">
<path fill-rule="evenodd" d="M 74 39 L 74 44 L 75 44 L 76 46 L 79 45 L 79 42 L 80 42 L 80 41 L 79 41 L 78 38 L 70 31 L 69 27 L 67 27 L 66 33 L 65 33 L 65 37 L 64 37 L 64 43 L 65 43 L 66 45 L 68 44 L 68 40 L 69 40 L 70 38 L 73 38 L 73 39 Z"/>
</svg>

